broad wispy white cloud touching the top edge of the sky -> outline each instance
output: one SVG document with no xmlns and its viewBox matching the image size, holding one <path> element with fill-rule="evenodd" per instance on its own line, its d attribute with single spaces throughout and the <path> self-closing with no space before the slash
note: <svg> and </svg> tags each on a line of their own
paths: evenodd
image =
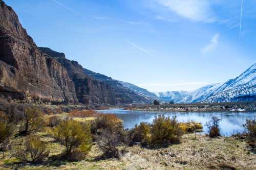
<svg viewBox="0 0 256 170">
<path fill-rule="evenodd" d="M 177 15 L 193 21 L 214 22 L 217 20 L 208 0 L 156 0 L 156 2 Z"/>
</svg>

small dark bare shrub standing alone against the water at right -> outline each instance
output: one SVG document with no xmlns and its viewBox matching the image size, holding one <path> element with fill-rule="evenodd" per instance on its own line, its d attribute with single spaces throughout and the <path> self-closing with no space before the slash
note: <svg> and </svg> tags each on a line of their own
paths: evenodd
<svg viewBox="0 0 256 170">
<path fill-rule="evenodd" d="M 210 137 L 220 136 L 220 128 L 219 128 L 220 121 L 221 121 L 220 118 L 216 116 L 212 116 L 209 122 L 206 122 L 206 127 L 208 129 L 208 133 Z"/>
</svg>

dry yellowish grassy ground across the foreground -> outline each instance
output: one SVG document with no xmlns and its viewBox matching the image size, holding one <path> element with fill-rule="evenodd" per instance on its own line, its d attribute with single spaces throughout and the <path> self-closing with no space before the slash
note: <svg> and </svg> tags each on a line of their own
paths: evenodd
<svg viewBox="0 0 256 170">
<path fill-rule="evenodd" d="M 41 164 L 23 163 L 12 156 L 15 147 L 22 146 L 24 137 L 11 140 L 12 150 L 0 159 L 0 169 L 256 169 L 256 155 L 250 152 L 244 140 L 208 138 L 186 134 L 180 144 L 162 149 L 128 147 L 120 160 L 96 160 L 101 155 L 97 145 L 93 145 L 88 158 L 79 162 L 58 159 L 63 146 L 56 143 L 47 133 L 38 133 L 41 140 L 48 142 L 49 158 Z"/>
</svg>

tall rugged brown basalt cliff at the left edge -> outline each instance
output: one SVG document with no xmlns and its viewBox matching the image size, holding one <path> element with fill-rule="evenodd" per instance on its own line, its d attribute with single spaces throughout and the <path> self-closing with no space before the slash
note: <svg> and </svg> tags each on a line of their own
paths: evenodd
<svg viewBox="0 0 256 170">
<path fill-rule="evenodd" d="M 16 100 L 76 103 L 74 83 L 56 60 L 44 56 L 0 0 L 0 96 Z"/>
</svg>

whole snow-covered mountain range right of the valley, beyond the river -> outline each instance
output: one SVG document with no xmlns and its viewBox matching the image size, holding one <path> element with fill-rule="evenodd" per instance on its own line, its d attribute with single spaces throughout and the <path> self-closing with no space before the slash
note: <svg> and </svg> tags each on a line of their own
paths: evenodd
<svg viewBox="0 0 256 170">
<path fill-rule="evenodd" d="M 165 102 L 194 103 L 194 102 L 239 102 L 256 100 L 256 63 L 240 76 L 225 83 L 203 86 L 194 91 L 155 92 Z"/>
</svg>

